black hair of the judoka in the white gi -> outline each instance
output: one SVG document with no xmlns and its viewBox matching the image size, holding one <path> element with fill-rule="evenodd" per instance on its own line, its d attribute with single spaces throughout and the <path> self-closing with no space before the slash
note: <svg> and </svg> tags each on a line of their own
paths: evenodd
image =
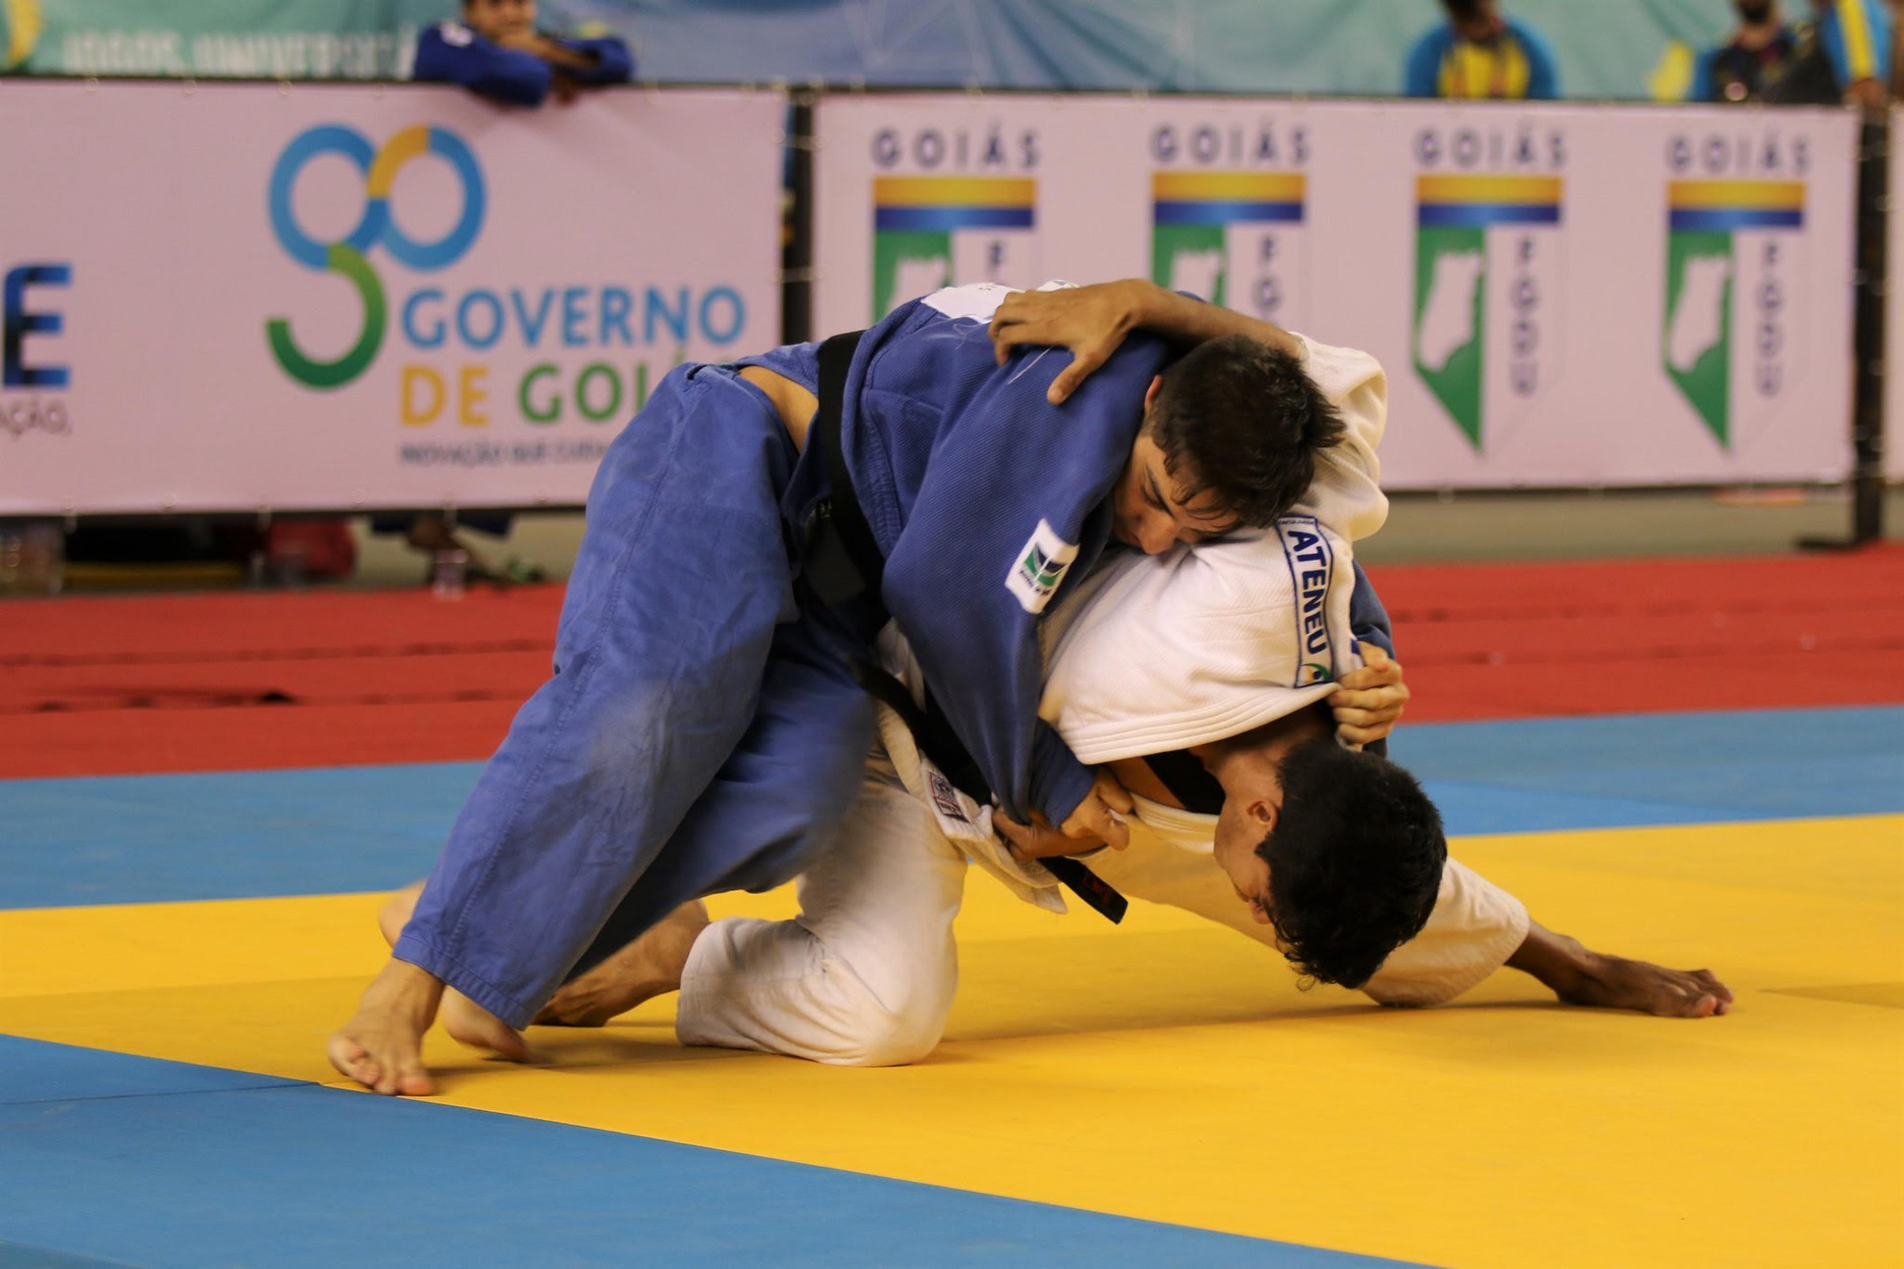
<svg viewBox="0 0 1904 1269">
<path fill-rule="evenodd" d="M 1270 918 L 1299 974 L 1361 987 L 1428 924 L 1447 838 L 1415 777 L 1333 735 L 1281 762 L 1283 808 L 1257 846 Z"/>
</svg>

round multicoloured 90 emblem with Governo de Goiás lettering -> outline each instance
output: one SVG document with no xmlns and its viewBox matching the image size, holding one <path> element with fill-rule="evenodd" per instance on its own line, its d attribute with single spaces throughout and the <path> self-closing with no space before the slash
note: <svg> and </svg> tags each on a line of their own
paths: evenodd
<svg viewBox="0 0 1904 1269">
<path fill-rule="evenodd" d="M 432 156 L 447 166 L 453 187 L 425 179 L 415 192 L 400 183 L 411 160 Z M 318 160 L 345 160 L 356 189 L 312 177 L 326 212 L 354 215 L 335 240 L 308 232 L 299 219 L 299 179 Z M 434 177 L 436 173 L 428 173 Z M 402 194 L 402 198 L 400 198 Z M 341 200 L 348 200 L 337 208 Z M 398 202 L 411 217 L 436 213 L 434 236 L 411 236 L 398 215 Z M 455 131 L 417 124 L 392 133 L 381 149 L 345 124 L 318 124 L 284 149 L 270 171 L 270 229 L 297 265 L 335 274 L 356 292 L 350 309 L 348 347 L 331 354 L 314 351 L 293 320 L 272 316 L 265 337 L 274 362 L 295 383 L 314 391 L 339 391 L 362 379 L 388 337 L 406 351 L 396 375 L 396 415 L 423 427 L 455 419 L 484 427 L 491 415 L 527 425 L 552 425 L 565 417 L 585 423 L 621 423 L 647 398 L 649 383 L 685 358 L 693 341 L 724 347 L 746 330 L 746 301 L 729 284 L 636 286 L 575 284 L 495 278 L 497 263 L 476 250 L 491 219 L 489 183 L 476 151 Z M 312 217 L 316 219 L 316 217 Z M 503 265 L 522 269 L 533 244 L 554 225 L 527 234 L 510 227 L 514 252 L 489 252 Z M 489 236 L 493 236 L 491 231 Z M 356 316 L 360 314 L 360 316 Z M 645 351 L 651 356 L 626 356 Z M 491 368 L 514 377 L 514 391 L 497 391 Z M 565 461 L 560 452 L 556 461 Z M 600 457 L 577 450 L 575 459 Z M 529 446 L 510 461 L 546 461 Z"/>
</svg>

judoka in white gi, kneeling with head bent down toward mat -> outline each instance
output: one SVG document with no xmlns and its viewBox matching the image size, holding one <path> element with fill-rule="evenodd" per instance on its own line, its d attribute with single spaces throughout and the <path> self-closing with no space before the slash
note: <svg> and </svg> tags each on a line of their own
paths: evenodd
<svg viewBox="0 0 1904 1269">
<path fill-rule="evenodd" d="M 1118 284 L 1015 297 L 996 332 L 1080 349 L 1081 377 L 1121 330 L 1148 324 L 1196 337 L 1201 332 L 1190 324 L 1207 320 L 1203 307 Z M 1274 328 L 1262 333 L 1289 339 Z M 1255 850 L 1287 810 L 1285 764 L 1293 753 L 1323 760 L 1318 755 L 1335 749 L 1314 743 L 1337 724 L 1331 701 L 1346 737 L 1373 739 L 1405 699 L 1399 671 L 1380 650 L 1365 648 L 1371 665 L 1358 669 L 1348 619 L 1350 543 L 1386 516 L 1375 459 L 1386 383 L 1367 354 L 1295 339 L 1310 377 L 1342 413 L 1348 440 L 1318 465 L 1308 497 L 1262 539 L 1127 554 L 1099 570 L 1047 617 L 1041 701 L 1041 716 L 1078 756 L 1108 764 L 1135 795 L 1129 848 L 1097 852 L 1091 867 L 1127 896 L 1194 911 L 1293 958 L 1302 949 L 1278 937 L 1289 922 L 1270 924 L 1270 869 Z M 1061 379 L 1053 391 L 1074 383 Z M 887 640 L 885 652 L 902 667 L 902 646 Z M 678 1033 L 687 1044 L 843 1065 L 904 1063 L 931 1052 L 956 989 L 952 920 L 969 861 L 1028 901 L 1057 907 L 1062 899 L 1036 863 L 998 848 L 990 812 L 935 779 L 891 715 L 882 737 L 887 753 L 870 764 L 840 840 L 800 880 L 796 920 L 704 926 L 704 916 L 684 909 L 564 987 L 543 1019 L 600 1023 L 678 983 Z M 1186 800 L 1171 787 L 1184 793 L 1180 764 L 1167 781 L 1171 766 L 1144 762 L 1186 749 L 1220 785 L 1220 816 L 1173 806 Z M 1205 808 L 1215 810 L 1207 798 Z M 1051 833 L 1000 827 L 1021 856 L 1078 848 Z M 1438 825 L 1434 836 L 1438 844 Z M 1426 924 L 1403 920 L 1396 928 L 1418 932 L 1399 947 L 1388 941 L 1373 949 L 1373 962 L 1358 966 L 1352 957 L 1318 976 L 1388 1004 L 1436 1004 L 1510 964 L 1580 1004 L 1677 1016 L 1723 1014 L 1731 1004 L 1731 993 L 1704 970 L 1681 974 L 1590 953 L 1533 924 L 1517 899 L 1458 861 L 1443 863 L 1434 852 L 1420 857 L 1432 859 L 1434 875 L 1386 880 L 1398 901 L 1426 882 Z"/>
</svg>

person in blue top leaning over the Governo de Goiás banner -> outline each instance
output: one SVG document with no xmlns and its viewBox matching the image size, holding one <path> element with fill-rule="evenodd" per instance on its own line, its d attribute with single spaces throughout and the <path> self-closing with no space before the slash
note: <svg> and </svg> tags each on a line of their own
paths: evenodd
<svg viewBox="0 0 1904 1269">
<path fill-rule="evenodd" d="M 535 0 L 465 0 L 463 21 L 417 36 L 411 78 L 461 84 L 510 105 L 573 101 L 585 88 L 626 84 L 634 57 L 615 36 L 573 40 L 535 29 Z"/>
</svg>

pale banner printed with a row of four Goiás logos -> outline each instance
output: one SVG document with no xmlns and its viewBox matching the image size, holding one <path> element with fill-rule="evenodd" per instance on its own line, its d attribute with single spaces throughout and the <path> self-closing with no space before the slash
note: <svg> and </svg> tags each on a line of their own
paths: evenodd
<svg viewBox="0 0 1904 1269">
<path fill-rule="evenodd" d="M 1388 368 L 1390 488 L 1841 480 L 1839 111 L 853 95 L 819 332 L 1150 276 Z"/>
</svg>

